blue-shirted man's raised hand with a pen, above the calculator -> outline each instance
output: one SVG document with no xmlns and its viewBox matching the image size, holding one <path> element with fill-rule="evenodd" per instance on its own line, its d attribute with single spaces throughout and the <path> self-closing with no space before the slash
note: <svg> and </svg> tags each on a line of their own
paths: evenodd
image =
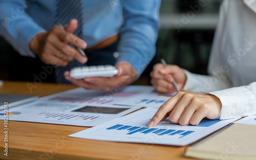
<svg viewBox="0 0 256 160">
<path fill-rule="evenodd" d="M 55 25 L 48 32 L 36 34 L 29 42 L 30 49 L 45 64 L 67 66 L 73 59 L 86 63 L 87 59 L 78 50 L 67 44 L 70 43 L 82 49 L 87 47 L 86 42 L 72 34 L 76 30 L 77 24 L 77 20 L 72 19 L 65 30 Z"/>
</svg>

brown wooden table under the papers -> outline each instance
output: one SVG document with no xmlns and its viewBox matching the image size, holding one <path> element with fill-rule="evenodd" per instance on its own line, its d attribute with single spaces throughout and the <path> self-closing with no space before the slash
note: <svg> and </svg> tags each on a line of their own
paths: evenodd
<svg viewBox="0 0 256 160">
<path fill-rule="evenodd" d="M 29 90 L 28 85 L 33 86 Z M 4 82 L 0 93 L 39 97 L 76 88 L 71 85 Z M 4 155 L 4 132 L 0 131 L 0 159 L 193 159 L 183 156 L 185 147 L 105 142 L 70 138 L 89 127 L 8 121 L 8 156 Z M 4 128 L 4 121 L 0 126 Z M 4 129 L 2 129 L 4 130 Z"/>
</svg>

